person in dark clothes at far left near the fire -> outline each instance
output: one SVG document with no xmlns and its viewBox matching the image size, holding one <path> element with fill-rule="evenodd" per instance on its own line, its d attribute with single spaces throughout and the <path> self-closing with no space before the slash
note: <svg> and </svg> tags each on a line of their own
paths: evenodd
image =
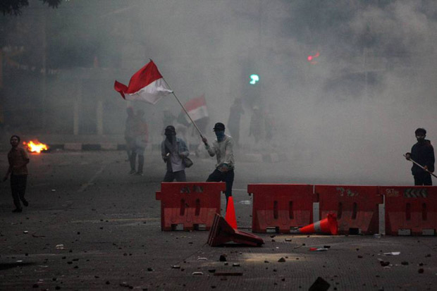
<svg viewBox="0 0 437 291">
<path fill-rule="evenodd" d="M 12 212 L 23 211 L 20 200 L 24 206 L 29 205 L 24 197 L 27 184 L 27 163 L 29 163 L 29 156 L 27 156 L 25 149 L 18 147 L 18 144 L 20 144 L 20 137 L 13 135 L 11 137 L 12 149 L 8 152 L 9 168 L 3 178 L 3 180 L 6 181 L 8 180 L 9 174 L 11 174 L 13 204 L 16 206 L 16 209 Z"/>
</svg>

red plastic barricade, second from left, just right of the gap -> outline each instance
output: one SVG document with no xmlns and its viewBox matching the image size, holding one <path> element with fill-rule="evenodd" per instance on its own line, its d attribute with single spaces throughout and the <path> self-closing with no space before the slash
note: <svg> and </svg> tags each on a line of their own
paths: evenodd
<svg viewBox="0 0 437 291">
<path fill-rule="evenodd" d="M 290 233 L 312 223 L 313 202 L 316 202 L 312 185 L 250 184 L 247 193 L 254 194 L 252 232 Z"/>
</svg>

